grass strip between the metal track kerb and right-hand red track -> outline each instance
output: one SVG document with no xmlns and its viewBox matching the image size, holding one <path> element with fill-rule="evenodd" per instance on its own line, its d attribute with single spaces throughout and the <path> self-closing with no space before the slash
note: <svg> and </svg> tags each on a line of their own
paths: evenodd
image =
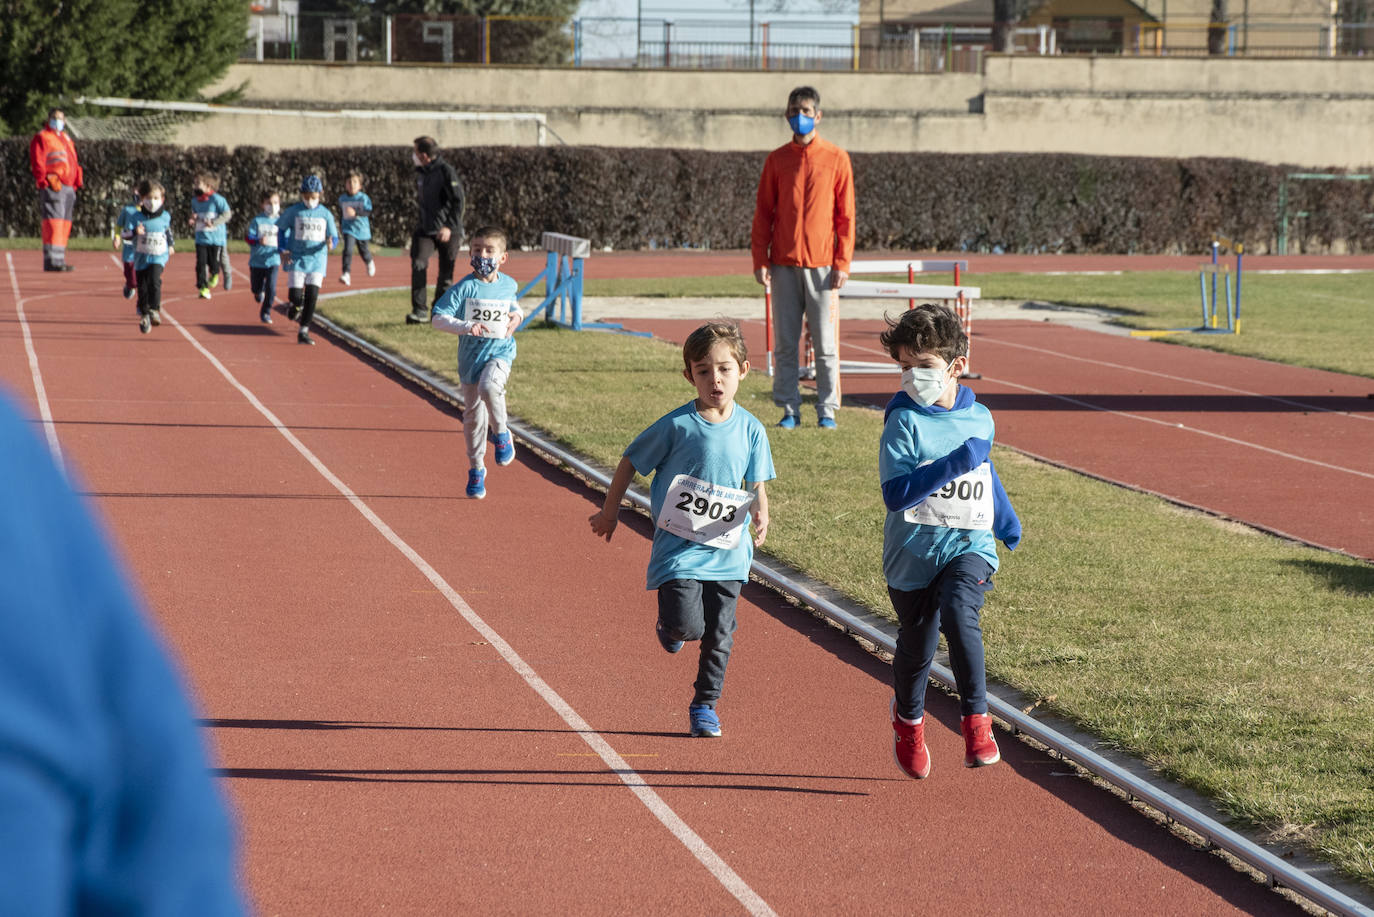
<svg viewBox="0 0 1374 917">
<path fill-rule="evenodd" d="M 322 307 L 456 381 L 456 340 L 401 324 L 403 294 Z M 607 469 L 691 397 L 671 344 L 519 334 L 513 414 Z M 739 403 L 771 425 L 763 373 L 743 381 Z M 778 480 L 765 551 L 890 617 L 881 423 L 846 407 L 834 432 L 768 426 Z M 1374 888 L 1374 566 L 1006 448 L 993 456 L 1025 542 L 1003 550 L 988 597 L 989 675 Z"/>
</svg>

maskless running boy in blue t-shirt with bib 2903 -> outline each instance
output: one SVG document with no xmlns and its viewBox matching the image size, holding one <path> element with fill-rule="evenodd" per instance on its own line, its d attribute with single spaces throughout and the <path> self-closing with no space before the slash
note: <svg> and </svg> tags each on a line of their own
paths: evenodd
<svg viewBox="0 0 1374 917">
<path fill-rule="evenodd" d="M 720 736 L 716 704 L 735 641 L 735 604 L 754 547 L 768 535 L 764 481 L 774 478 L 774 465 L 763 423 L 735 403 L 739 381 L 749 374 L 739 329 L 725 322 L 701 326 L 683 344 L 683 363 L 697 399 L 629 444 L 591 527 L 609 542 L 635 472 L 653 473 L 657 527 L 646 579 L 647 588 L 658 590 L 654 630 L 669 653 L 684 641 L 701 641 L 687 719 L 692 736 Z"/>
</svg>

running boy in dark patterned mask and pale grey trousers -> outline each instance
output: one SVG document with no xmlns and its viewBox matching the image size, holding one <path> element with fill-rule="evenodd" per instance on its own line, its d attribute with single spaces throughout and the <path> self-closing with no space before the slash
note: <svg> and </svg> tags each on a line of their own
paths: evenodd
<svg viewBox="0 0 1374 917">
<path fill-rule="evenodd" d="M 515 302 L 515 278 L 502 274 L 508 257 L 506 231 L 485 225 L 469 242 L 473 272 L 444 290 L 433 324 L 460 334 L 458 378 L 463 389 L 463 436 L 467 439 L 467 495 L 486 496 L 486 430 L 496 432 L 496 463 L 515 461 L 506 429 L 506 381 L 515 362 L 515 338 L 523 312 Z"/>
</svg>

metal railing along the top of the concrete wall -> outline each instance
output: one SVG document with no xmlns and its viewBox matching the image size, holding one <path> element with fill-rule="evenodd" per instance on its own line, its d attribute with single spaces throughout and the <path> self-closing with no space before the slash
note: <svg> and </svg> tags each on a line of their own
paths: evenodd
<svg viewBox="0 0 1374 917">
<path fill-rule="evenodd" d="M 721 70 L 978 71 L 992 27 L 844 21 L 627 19 L 264 12 L 240 59 Z M 1374 56 L 1374 22 L 1147 22 L 1094 33 L 1015 29 L 1015 54 Z"/>
</svg>

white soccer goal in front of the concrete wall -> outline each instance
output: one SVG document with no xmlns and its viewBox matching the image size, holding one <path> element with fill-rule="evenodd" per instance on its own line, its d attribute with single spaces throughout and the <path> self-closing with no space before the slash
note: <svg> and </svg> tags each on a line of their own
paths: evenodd
<svg viewBox="0 0 1374 917">
<path fill-rule="evenodd" d="M 441 147 L 562 143 L 540 111 L 268 109 L 85 96 L 76 102 L 99 113 L 67 118 L 73 133 L 89 140 L 268 150 L 396 146 L 416 136 L 433 136 Z"/>
</svg>

